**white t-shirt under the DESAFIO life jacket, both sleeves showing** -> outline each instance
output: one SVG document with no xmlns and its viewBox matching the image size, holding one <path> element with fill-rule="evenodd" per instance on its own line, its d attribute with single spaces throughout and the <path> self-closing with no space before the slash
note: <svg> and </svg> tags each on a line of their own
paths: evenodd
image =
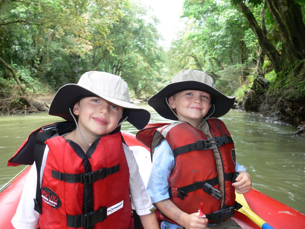
<svg viewBox="0 0 305 229">
<path fill-rule="evenodd" d="M 135 209 L 139 216 L 151 213 L 153 208 L 152 201 L 145 189 L 139 173 L 139 167 L 132 151 L 123 144 L 127 164 L 129 167 L 129 189 L 131 198 L 131 208 Z M 45 147 L 45 153 L 41 165 L 40 184 L 42 181 L 42 173 L 45 169 L 45 162 L 49 148 Z M 29 174 L 25 181 L 20 202 L 16 210 L 16 214 L 12 219 L 12 224 L 16 229 L 35 229 L 39 220 L 39 213 L 34 210 L 34 198 L 36 198 L 37 170 L 35 162 L 30 168 Z"/>
</svg>

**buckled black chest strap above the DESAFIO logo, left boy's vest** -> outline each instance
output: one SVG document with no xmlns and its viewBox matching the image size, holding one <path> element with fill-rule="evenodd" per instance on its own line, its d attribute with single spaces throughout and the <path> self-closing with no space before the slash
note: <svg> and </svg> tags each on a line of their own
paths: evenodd
<svg viewBox="0 0 305 229">
<path fill-rule="evenodd" d="M 108 175 L 113 173 L 117 173 L 120 171 L 120 164 L 115 165 L 110 168 L 101 168 L 94 172 L 89 173 L 77 173 L 77 174 L 70 174 L 70 173 L 60 173 L 58 171 L 52 170 L 52 177 L 58 180 L 64 180 L 68 183 L 78 183 L 81 184 L 93 184 L 94 182 L 105 179 Z"/>
</svg>

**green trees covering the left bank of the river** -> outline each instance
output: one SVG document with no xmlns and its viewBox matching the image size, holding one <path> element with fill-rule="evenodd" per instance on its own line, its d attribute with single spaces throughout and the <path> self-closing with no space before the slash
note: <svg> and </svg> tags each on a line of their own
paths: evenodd
<svg viewBox="0 0 305 229">
<path fill-rule="evenodd" d="M 134 3 L 26 0 L 4 1 L 0 8 L 0 57 L 28 92 L 76 83 L 92 70 L 121 75 L 137 96 L 155 92 L 163 58 L 157 21 L 146 20 L 145 9 Z M 12 79 L 5 65 L 0 72 Z M 3 96 L 13 89 L 4 88 Z"/>
</svg>

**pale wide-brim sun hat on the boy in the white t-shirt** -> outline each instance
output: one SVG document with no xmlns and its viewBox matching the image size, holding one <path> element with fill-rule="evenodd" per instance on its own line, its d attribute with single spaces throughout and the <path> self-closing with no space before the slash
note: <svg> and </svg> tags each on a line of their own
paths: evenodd
<svg viewBox="0 0 305 229">
<path fill-rule="evenodd" d="M 84 97 L 97 96 L 117 106 L 124 107 L 123 118 L 137 129 L 143 129 L 150 119 L 149 111 L 130 103 L 127 83 L 119 76 L 101 71 L 89 71 L 77 84 L 66 84 L 58 89 L 49 115 L 73 121 L 69 108 Z"/>
</svg>

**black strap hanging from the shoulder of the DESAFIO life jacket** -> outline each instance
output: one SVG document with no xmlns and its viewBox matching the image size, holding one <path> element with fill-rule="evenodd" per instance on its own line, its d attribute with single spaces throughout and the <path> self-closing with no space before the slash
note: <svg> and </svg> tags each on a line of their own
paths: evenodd
<svg viewBox="0 0 305 229">
<path fill-rule="evenodd" d="M 36 143 L 34 147 L 34 160 L 37 169 L 37 186 L 36 186 L 36 198 L 34 199 L 34 210 L 39 214 L 41 210 L 41 191 L 40 191 L 40 170 L 42 164 L 43 153 L 45 151 L 45 141 L 52 135 L 58 136 L 58 129 L 56 125 L 49 125 L 42 128 L 43 131 L 37 133 Z"/>
</svg>

